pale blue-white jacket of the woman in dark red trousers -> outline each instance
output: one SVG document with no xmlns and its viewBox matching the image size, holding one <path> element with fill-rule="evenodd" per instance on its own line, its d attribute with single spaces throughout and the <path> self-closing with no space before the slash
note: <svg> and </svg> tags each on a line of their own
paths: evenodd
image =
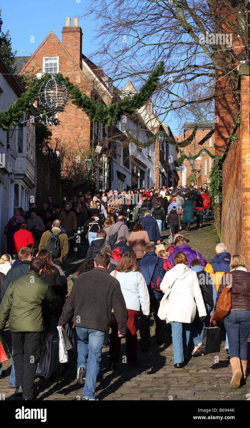
<svg viewBox="0 0 250 428">
<path fill-rule="evenodd" d="M 115 271 L 110 273 L 115 276 Z M 147 284 L 141 272 L 118 272 L 116 279 L 120 282 L 121 292 L 123 294 L 126 308 L 134 311 L 141 311 L 144 315 L 149 315 L 150 300 L 147 290 Z"/>
</svg>

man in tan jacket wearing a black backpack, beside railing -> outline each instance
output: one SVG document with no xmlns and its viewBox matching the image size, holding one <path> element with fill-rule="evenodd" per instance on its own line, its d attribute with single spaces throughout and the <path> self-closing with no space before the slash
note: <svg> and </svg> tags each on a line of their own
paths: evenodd
<svg viewBox="0 0 250 428">
<path fill-rule="evenodd" d="M 68 236 L 61 231 L 61 220 L 53 221 L 53 228 L 44 232 L 39 244 L 40 250 L 48 250 L 55 265 L 62 266 L 63 259 L 68 255 Z"/>
</svg>

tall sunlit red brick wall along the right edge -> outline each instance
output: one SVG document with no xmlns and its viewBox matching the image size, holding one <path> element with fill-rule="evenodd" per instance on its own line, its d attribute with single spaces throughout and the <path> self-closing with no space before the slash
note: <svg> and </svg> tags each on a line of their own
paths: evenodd
<svg viewBox="0 0 250 428">
<path fill-rule="evenodd" d="M 250 268 L 250 78 L 241 76 L 241 124 L 238 140 L 223 163 L 222 239 L 231 254 L 241 254 Z"/>
</svg>

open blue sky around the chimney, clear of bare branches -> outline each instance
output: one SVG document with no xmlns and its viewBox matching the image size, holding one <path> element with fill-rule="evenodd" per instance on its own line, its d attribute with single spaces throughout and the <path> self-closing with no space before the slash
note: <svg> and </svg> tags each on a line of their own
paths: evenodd
<svg viewBox="0 0 250 428">
<path fill-rule="evenodd" d="M 3 20 L 2 31 L 9 30 L 12 39 L 12 50 L 17 50 L 17 56 L 29 56 L 35 52 L 45 37 L 53 31 L 62 41 L 62 27 L 66 24 L 66 18 L 85 15 L 87 0 L 12 0 L 4 2 L 1 18 Z M 94 36 L 95 22 L 91 17 L 79 18 L 79 26 L 82 28 L 82 52 L 86 56 L 97 50 L 97 45 L 91 41 Z M 33 37 L 32 37 L 33 36 Z M 34 42 L 31 43 L 31 40 Z M 97 43 L 97 42 L 95 42 Z M 95 62 L 97 60 L 95 59 Z M 122 82 L 122 86 L 125 81 Z M 137 88 L 139 89 L 139 88 Z M 159 114 L 158 110 L 158 114 Z M 173 119 L 164 119 L 174 134 L 179 134 L 179 123 Z"/>
</svg>

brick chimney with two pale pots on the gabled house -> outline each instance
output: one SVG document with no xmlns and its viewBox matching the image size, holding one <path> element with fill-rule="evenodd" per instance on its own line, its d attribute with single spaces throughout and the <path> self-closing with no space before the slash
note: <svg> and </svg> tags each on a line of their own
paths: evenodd
<svg viewBox="0 0 250 428">
<path fill-rule="evenodd" d="M 71 26 L 71 18 L 66 18 L 66 25 L 62 28 L 62 44 L 82 69 L 82 29 L 78 18 L 74 18 L 74 26 Z"/>
</svg>

